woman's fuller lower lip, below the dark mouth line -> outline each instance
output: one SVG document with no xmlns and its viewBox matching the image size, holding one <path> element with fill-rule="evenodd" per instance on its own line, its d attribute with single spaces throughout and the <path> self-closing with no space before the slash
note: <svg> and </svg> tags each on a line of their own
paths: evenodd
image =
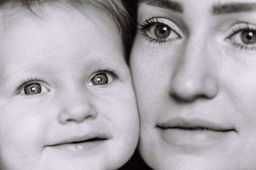
<svg viewBox="0 0 256 170">
<path fill-rule="evenodd" d="M 183 130 L 179 128 L 161 129 L 162 138 L 175 146 L 209 146 L 221 143 L 234 131 L 220 132 L 213 130 Z"/>
</svg>

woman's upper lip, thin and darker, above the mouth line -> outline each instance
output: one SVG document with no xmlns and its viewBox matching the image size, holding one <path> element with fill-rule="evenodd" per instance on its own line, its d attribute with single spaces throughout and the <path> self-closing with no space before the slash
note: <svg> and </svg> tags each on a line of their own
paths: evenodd
<svg viewBox="0 0 256 170">
<path fill-rule="evenodd" d="M 204 119 L 183 119 L 183 118 L 173 118 L 161 121 L 157 124 L 159 128 L 176 128 L 184 130 L 212 130 L 219 132 L 229 132 L 236 131 L 236 129 L 229 125 L 216 124 Z"/>
</svg>

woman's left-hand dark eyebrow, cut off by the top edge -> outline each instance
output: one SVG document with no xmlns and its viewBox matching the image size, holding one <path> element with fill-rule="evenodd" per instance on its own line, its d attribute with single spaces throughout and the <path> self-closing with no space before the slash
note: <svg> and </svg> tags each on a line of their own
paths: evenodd
<svg viewBox="0 0 256 170">
<path fill-rule="evenodd" d="M 139 3 L 145 3 L 154 7 L 171 9 L 179 13 L 183 12 L 180 2 L 174 0 L 139 0 Z"/>
</svg>

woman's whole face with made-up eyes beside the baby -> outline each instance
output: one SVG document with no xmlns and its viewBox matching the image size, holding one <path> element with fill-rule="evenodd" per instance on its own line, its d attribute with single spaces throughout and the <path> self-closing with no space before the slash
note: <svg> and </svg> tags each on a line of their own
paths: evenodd
<svg viewBox="0 0 256 170">
<path fill-rule="evenodd" d="M 256 0 L 141 0 L 130 66 L 154 170 L 256 169 Z"/>
</svg>

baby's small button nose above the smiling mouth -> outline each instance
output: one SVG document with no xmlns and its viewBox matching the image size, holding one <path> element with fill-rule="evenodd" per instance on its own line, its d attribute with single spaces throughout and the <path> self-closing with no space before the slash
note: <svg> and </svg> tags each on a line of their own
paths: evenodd
<svg viewBox="0 0 256 170">
<path fill-rule="evenodd" d="M 58 113 L 58 121 L 61 124 L 71 122 L 81 123 L 87 119 L 97 117 L 97 110 L 92 104 L 90 97 L 86 93 L 74 92 L 65 95 L 62 109 Z"/>
</svg>

